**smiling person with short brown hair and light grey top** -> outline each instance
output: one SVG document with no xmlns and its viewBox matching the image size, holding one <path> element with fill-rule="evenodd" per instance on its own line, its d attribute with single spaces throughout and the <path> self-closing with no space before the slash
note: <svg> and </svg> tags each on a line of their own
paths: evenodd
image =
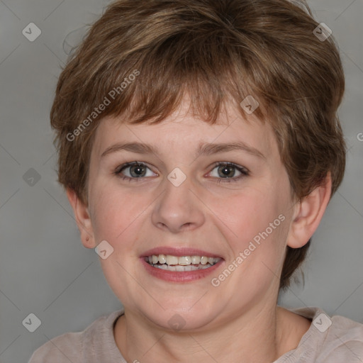
<svg viewBox="0 0 363 363">
<path fill-rule="evenodd" d="M 344 84 L 302 3 L 108 6 L 51 123 L 82 243 L 123 309 L 30 362 L 362 362 L 361 324 L 277 306 L 342 181 Z"/>
</svg>

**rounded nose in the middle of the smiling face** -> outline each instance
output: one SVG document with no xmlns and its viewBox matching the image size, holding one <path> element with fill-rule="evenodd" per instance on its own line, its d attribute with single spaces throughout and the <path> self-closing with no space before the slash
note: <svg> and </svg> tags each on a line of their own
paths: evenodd
<svg viewBox="0 0 363 363">
<path fill-rule="evenodd" d="M 196 197 L 196 191 L 192 190 L 189 178 L 179 186 L 174 186 L 169 180 L 165 184 L 166 189 L 152 211 L 152 223 L 172 233 L 194 230 L 203 225 L 203 203 Z"/>
</svg>

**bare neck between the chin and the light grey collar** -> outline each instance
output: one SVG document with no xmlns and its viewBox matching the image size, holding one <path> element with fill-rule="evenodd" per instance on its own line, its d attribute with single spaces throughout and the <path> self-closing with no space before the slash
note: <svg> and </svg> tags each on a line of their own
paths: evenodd
<svg viewBox="0 0 363 363">
<path fill-rule="evenodd" d="M 125 308 L 114 335 L 116 345 L 128 362 L 274 362 L 286 346 L 286 313 L 277 306 L 256 306 L 213 328 L 203 331 L 172 332 L 145 320 Z M 162 360 L 160 360 L 162 357 Z"/>
</svg>

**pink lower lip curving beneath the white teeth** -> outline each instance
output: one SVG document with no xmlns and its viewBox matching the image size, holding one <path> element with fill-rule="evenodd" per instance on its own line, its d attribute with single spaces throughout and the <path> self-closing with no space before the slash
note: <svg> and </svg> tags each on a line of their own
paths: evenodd
<svg viewBox="0 0 363 363">
<path fill-rule="evenodd" d="M 160 254 L 152 253 L 152 255 L 160 255 Z M 185 255 L 180 255 L 180 256 L 185 256 Z M 189 255 L 186 255 L 186 256 L 189 256 Z M 213 256 L 211 256 L 211 257 L 213 257 Z M 216 256 L 216 257 L 218 257 L 218 256 Z M 140 262 L 143 264 L 143 267 L 145 268 L 146 272 L 148 274 L 150 274 L 152 277 L 156 277 L 157 279 L 162 279 L 164 281 L 181 283 L 181 282 L 196 281 L 199 279 L 203 279 L 204 277 L 207 277 L 212 272 L 215 272 L 216 269 L 218 269 L 218 267 L 220 267 L 223 264 L 224 259 L 220 259 L 220 261 L 218 261 L 216 264 L 213 264 L 213 266 L 208 267 L 208 269 L 197 269 L 194 271 L 180 271 L 180 272 L 179 271 L 167 271 L 164 269 L 158 269 L 157 267 L 152 267 L 151 264 L 148 264 L 145 261 L 145 256 L 140 257 Z"/>
</svg>

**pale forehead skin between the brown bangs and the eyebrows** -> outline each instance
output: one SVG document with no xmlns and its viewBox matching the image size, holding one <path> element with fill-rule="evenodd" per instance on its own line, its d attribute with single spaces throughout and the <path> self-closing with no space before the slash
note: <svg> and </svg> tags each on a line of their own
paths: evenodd
<svg viewBox="0 0 363 363">
<path fill-rule="evenodd" d="M 122 116 L 107 117 L 100 122 L 92 150 L 96 155 L 101 155 L 111 145 L 131 142 L 152 145 L 158 153 L 168 157 L 179 152 L 184 155 L 195 152 L 204 143 L 242 142 L 263 155 L 274 154 L 278 149 L 268 122 L 262 123 L 253 114 L 246 120 L 234 108 L 220 113 L 213 125 L 193 116 L 185 106 L 157 124 L 130 124 Z"/>
</svg>

